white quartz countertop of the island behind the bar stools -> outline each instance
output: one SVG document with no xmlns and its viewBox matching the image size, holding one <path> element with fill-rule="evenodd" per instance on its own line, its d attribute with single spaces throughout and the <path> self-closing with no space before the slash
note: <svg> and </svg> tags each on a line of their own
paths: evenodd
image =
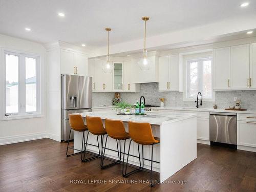
<svg viewBox="0 0 256 192">
<path fill-rule="evenodd" d="M 149 122 L 150 124 L 155 125 L 163 125 L 176 121 L 181 121 L 184 119 L 189 119 L 192 117 L 196 117 L 197 114 L 193 113 L 182 113 L 182 114 L 174 114 L 170 112 L 147 112 L 146 115 L 117 115 L 117 112 L 113 110 L 108 111 L 97 111 L 97 112 L 86 112 L 80 113 L 82 117 L 93 116 L 100 117 L 101 119 L 116 119 L 124 122 L 134 121 L 134 122 Z"/>
</svg>

